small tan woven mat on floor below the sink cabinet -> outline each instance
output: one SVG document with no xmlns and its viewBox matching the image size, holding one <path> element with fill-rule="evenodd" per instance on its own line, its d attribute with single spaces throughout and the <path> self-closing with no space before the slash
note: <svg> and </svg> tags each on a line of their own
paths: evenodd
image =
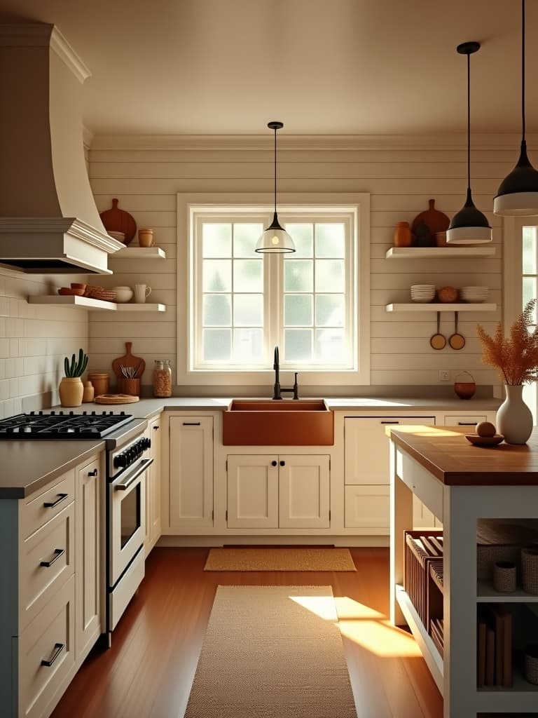
<svg viewBox="0 0 538 718">
<path fill-rule="evenodd" d="M 356 571 L 349 549 L 211 549 L 204 571 Z"/>
</svg>

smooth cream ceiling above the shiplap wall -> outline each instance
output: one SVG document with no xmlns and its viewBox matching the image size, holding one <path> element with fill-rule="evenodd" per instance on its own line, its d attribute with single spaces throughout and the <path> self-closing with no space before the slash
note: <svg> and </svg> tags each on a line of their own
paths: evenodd
<svg viewBox="0 0 538 718">
<path fill-rule="evenodd" d="M 92 77 L 95 134 L 438 134 L 521 127 L 519 0 L 0 0 L 57 25 Z M 527 1 L 527 131 L 538 131 Z"/>
</svg>

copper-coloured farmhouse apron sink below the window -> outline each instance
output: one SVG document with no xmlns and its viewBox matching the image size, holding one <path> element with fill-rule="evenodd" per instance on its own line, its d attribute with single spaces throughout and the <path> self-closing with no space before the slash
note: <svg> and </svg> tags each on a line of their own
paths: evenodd
<svg viewBox="0 0 538 718">
<path fill-rule="evenodd" d="M 332 446 L 334 414 L 323 399 L 234 399 L 222 416 L 225 446 Z"/>
</svg>

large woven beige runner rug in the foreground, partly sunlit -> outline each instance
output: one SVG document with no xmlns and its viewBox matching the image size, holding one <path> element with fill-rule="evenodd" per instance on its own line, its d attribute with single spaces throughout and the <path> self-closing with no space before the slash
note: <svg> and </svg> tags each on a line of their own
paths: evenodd
<svg viewBox="0 0 538 718">
<path fill-rule="evenodd" d="M 357 718 L 330 586 L 219 586 L 185 718 Z"/>
</svg>

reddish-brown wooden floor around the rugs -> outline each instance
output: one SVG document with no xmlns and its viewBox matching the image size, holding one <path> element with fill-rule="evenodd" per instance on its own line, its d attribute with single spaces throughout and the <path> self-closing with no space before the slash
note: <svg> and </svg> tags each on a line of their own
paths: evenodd
<svg viewBox="0 0 538 718">
<path fill-rule="evenodd" d="M 388 549 L 350 550 L 357 573 L 204 572 L 208 549 L 154 549 L 112 648 L 93 649 L 52 718 L 182 718 L 218 584 L 330 584 L 359 718 L 442 718 L 415 641 L 387 620 Z"/>
</svg>

